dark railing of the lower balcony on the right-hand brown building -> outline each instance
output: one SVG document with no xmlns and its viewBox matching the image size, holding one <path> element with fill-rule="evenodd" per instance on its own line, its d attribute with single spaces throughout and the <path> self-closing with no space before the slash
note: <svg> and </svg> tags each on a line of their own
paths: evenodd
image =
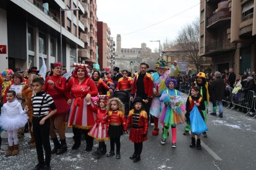
<svg viewBox="0 0 256 170">
<path fill-rule="evenodd" d="M 236 44 L 231 43 L 229 39 L 219 40 L 205 45 L 205 52 L 223 51 L 229 49 L 236 49 Z"/>
</svg>

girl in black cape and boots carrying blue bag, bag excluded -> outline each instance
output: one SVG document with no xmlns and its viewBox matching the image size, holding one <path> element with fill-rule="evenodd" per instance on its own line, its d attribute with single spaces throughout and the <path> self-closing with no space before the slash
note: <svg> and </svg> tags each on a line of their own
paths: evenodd
<svg viewBox="0 0 256 170">
<path fill-rule="evenodd" d="M 187 98 L 187 102 L 186 102 L 186 118 L 187 118 L 187 123 L 190 124 L 190 111 L 192 111 L 194 105 L 197 106 L 200 115 L 202 116 L 202 118 L 204 119 L 203 116 L 203 112 L 202 110 L 205 110 L 205 103 L 203 102 L 203 98 L 200 95 L 200 87 L 199 86 L 194 86 L 191 89 L 191 95 L 189 95 L 189 97 Z M 191 132 L 191 136 L 192 136 L 192 142 L 189 145 L 190 148 L 194 148 L 195 147 L 195 135 Z M 202 150 L 201 147 L 201 141 L 200 141 L 200 137 L 201 135 L 197 135 L 197 149 L 198 150 Z"/>
</svg>

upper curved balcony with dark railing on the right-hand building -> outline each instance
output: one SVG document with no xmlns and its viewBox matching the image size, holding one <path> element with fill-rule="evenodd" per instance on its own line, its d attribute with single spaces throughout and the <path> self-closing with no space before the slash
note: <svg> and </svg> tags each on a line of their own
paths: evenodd
<svg viewBox="0 0 256 170">
<path fill-rule="evenodd" d="M 220 9 L 207 17 L 207 28 L 220 26 L 223 22 L 231 21 L 229 9 Z"/>
</svg>

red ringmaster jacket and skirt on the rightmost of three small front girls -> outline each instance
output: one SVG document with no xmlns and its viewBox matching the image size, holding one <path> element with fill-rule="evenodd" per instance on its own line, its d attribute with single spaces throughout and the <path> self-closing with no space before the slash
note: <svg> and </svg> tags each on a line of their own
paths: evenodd
<svg viewBox="0 0 256 170">
<path fill-rule="evenodd" d="M 129 124 L 131 124 L 129 140 L 134 143 L 147 140 L 147 136 L 143 137 L 143 134 L 147 134 L 148 132 L 148 116 L 146 111 L 130 110 L 126 120 L 126 131 Z"/>
</svg>

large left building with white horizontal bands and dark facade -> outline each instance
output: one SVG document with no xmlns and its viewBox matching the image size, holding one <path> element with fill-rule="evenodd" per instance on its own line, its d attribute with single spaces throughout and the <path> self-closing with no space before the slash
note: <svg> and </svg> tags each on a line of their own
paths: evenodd
<svg viewBox="0 0 256 170">
<path fill-rule="evenodd" d="M 69 70 L 77 62 L 77 48 L 84 47 L 79 38 L 84 11 L 77 0 L 2 0 L 0 46 L 6 50 L 0 52 L 0 71 L 40 68 L 43 59 L 48 70 L 57 61 Z"/>
</svg>

